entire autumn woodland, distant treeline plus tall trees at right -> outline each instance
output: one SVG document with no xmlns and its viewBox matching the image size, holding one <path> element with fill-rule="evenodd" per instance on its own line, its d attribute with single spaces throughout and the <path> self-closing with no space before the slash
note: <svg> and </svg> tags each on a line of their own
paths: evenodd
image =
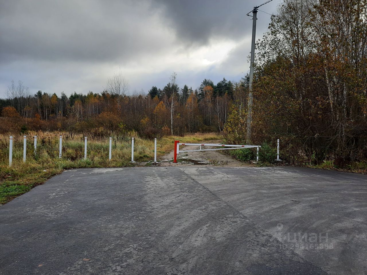
<svg viewBox="0 0 367 275">
<path fill-rule="evenodd" d="M 366 161 L 367 0 L 284 0 L 256 47 L 251 143 L 280 138 L 290 163 Z M 24 97 L 26 89 L 14 84 L 0 100 L 0 131 L 135 129 L 148 137 L 223 131 L 227 142 L 243 144 L 247 80 L 204 80 L 192 90 L 179 88 L 173 74 L 162 89 L 134 96 L 125 95 L 119 75 L 101 94 L 69 97 L 41 91 Z"/>
</svg>

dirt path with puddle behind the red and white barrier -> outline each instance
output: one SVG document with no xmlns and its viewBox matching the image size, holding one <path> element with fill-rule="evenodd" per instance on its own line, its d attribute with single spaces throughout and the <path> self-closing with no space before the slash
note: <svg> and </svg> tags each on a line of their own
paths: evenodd
<svg viewBox="0 0 367 275">
<path fill-rule="evenodd" d="M 207 140 L 205 143 L 221 143 L 221 140 Z M 182 148 L 181 148 L 182 147 Z M 200 146 L 181 146 L 180 150 L 197 150 Z M 216 147 L 205 147 L 206 149 L 216 148 Z M 178 162 L 180 164 L 186 165 L 215 165 L 215 166 L 232 166 L 232 167 L 240 167 L 240 166 L 254 166 L 248 163 L 244 163 L 241 161 L 237 161 L 229 155 L 225 155 L 221 150 L 216 151 L 197 151 L 197 152 L 186 152 L 180 153 L 178 155 Z M 172 163 L 173 160 L 173 150 L 164 155 L 160 159 L 160 163 L 162 166 L 172 166 L 177 165 Z"/>
</svg>

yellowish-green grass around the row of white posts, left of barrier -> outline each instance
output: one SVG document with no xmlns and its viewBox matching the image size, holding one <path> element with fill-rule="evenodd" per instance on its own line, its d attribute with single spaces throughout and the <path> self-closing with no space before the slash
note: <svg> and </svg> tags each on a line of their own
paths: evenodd
<svg viewBox="0 0 367 275">
<path fill-rule="evenodd" d="M 88 139 L 87 159 L 84 160 L 84 137 L 63 134 L 62 158 L 58 158 L 60 133 L 28 133 L 27 161 L 23 163 L 23 138 L 14 136 L 13 164 L 9 161 L 9 136 L 0 136 L 0 204 L 28 192 L 47 179 L 71 168 L 127 167 L 132 166 L 131 136 L 135 137 L 134 160 L 149 161 L 154 157 L 154 140 L 142 139 L 132 132 L 116 137 L 112 142 L 112 159 L 109 161 L 109 140 Z M 33 138 L 37 135 L 37 152 L 34 154 Z M 167 136 L 157 140 L 157 157 L 173 150 L 174 140 L 199 142 L 220 139 L 217 133 L 196 133 L 186 136 Z"/>
</svg>

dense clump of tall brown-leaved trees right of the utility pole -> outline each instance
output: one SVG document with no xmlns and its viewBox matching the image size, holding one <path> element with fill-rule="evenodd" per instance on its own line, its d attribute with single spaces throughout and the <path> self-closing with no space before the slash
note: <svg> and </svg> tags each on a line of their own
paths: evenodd
<svg viewBox="0 0 367 275">
<path fill-rule="evenodd" d="M 253 142 L 280 137 L 300 161 L 366 158 L 366 7 L 284 1 L 258 44 Z"/>
</svg>

